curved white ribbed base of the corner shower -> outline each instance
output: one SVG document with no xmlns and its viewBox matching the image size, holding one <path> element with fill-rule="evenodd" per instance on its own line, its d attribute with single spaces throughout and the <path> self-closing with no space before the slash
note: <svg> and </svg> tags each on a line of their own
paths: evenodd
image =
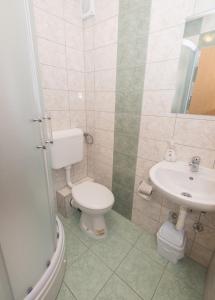
<svg viewBox="0 0 215 300">
<path fill-rule="evenodd" d="M 51 259 L 51 264 L 24 300 L 54 300 L 60 290 L 66 268 L 65 235 L 61 221 L 58 217 L 56 220 L 59 238 L 57 240 L 56 251 Z"/>
</svg>

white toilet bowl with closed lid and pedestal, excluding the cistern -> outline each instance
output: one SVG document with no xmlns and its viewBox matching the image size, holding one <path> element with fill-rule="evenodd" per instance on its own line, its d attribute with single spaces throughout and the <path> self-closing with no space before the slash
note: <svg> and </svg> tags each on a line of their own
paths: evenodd
<svg viewBox="0 0 215 300">
<path fill-rule="evenodd" d="M 72 188 L 73 205 L 81 213 L 80 227 L 91 237 L 104 238 L 107 234 L 104 215 L 112 208 L 114 196 L 105 186 L 86 181 Z"/>
</svg>

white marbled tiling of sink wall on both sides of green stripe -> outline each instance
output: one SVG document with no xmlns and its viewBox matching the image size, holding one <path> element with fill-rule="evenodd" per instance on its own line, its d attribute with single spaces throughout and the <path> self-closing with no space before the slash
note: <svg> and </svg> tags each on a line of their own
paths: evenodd
<svg viewBox="0 0 215 300">
<path fill-rule="evenodd" d="M 108 187 L 111 187 L 112 174 L 115 173 L 114 120 L 117 120 L 118 110 L 118 101 L 115 100 L 115 95 L 116 99 L 118 96 L 115 92 L 116 52 L 117 46 L 119 51 L 120 40 L 120 36 L 117 38 L 117 2 L 96 1 L 96 16 L 84 21 L 87 128 L 95 138 L 95 145 L 88 148 L 88 174 Z M 122 3 L 128 5 L 129 1 Z M 171 139 L 175 141 L 178 159 L 188 161 L 192 155 L 198 154 L 203 165 L 214 166 L 214 118 L 205 120 L 200 116 L 170 114 L 184 19 L 213 7 L 213 1 L 203 3 L 201 0 L 152 0 L 135 189 L 142 178 L 148 179 L 150 167 L 163 159 Z M 119 30 L 118 35 L 120 34 Z M 115 133 L 116 127 L 115 124 Z M 132 143 L 131 140 L 130 142 Z M 124 189 L 121 192 L 123 194 Z M 132 220 L 142 228 L 156 232 L 160 224 L 168 218 L 170 209 L 177 211 L 178 207 L 157 193 L 154 193 L 151 201 L 145 201 L 135 192 Z M 187 218 L 187 253 L 207 265 L 215 248 L 214 216 L 207 214 L 202 217 L 205 230 L 196 234 L 192 225 L 198 215 L 193 212 Z"/>
</svg>

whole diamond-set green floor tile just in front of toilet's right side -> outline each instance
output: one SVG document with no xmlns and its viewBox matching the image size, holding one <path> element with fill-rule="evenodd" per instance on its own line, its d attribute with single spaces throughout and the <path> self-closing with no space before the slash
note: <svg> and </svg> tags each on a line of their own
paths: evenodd
<svg viewBox="0 0 215 300">
<path fill-rule="evenodd" d="M 90 250 L 98 255 L 109 268 L 115 270 L 131 248 L 131 243 L 119 234 L 111 232 L 107 238 L 97 241 Z"/>
</svg>

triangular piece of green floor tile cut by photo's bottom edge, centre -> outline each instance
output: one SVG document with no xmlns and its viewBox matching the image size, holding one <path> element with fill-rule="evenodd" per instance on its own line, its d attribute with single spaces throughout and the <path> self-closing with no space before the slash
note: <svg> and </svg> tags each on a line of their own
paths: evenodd
<svg viewBox="0 0 215 300">
<path fill-rule="evenodd" d="M 141 298 L 116 275 L 113 275 L 96 300 L 141 300 Z"/>
</svg>

